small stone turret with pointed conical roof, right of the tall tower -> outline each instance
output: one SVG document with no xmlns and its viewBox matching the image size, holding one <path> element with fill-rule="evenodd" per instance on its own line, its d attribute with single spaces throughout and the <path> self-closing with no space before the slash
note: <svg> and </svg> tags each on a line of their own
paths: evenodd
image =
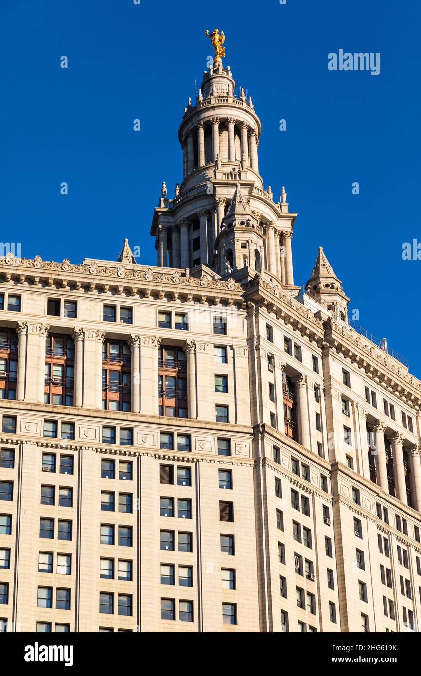
<svg viewBox="0 0 421 676">
<path fill-rule="evenodd" d="M 337 319 L 346 320 L 349 298 L 345 295 L 341 280 L 328 262 L 323 247 L 319 247 L 312 275 L 305 291 Z"/>
</svg>

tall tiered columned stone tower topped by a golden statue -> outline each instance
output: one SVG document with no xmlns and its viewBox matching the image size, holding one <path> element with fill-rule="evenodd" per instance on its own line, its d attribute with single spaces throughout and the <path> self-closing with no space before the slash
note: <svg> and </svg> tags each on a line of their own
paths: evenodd
<svg viewBox="0 0 421 676">
<path fill-rule="evenodd" d="M 193 105 L 189 99 L 178 129 L 183 180 L 172 199 L 163 184 L 153 215 L 157 265 L 190 268 L 191 274 L 205 267 L 242 279 L 261 272 L 295 289 L 291 238 L 297 214 L 289 212 L 283 187 L 278 203 L 264 188 L 262 125 L 251 96 L 243 89 L 235 95 L 230 67 L 222 65 L 223 32 L 209 37 L 214 63 L 203 72 L 197 100 Z"/>
</svg>

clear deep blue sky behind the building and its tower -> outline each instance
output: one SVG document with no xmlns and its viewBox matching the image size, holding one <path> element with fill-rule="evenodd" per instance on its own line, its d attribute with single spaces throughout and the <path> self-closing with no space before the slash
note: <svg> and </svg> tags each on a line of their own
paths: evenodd
<svg viewBox="0 0 421 676">
<path fill-rule="evenodd" d="M 360 324 L 421 377 L 421 261 L 401 259 L 421 241 L 420 20 L 418 0 L 1 0 L 0 240 L 79 262 L 128 237 L 153 264 L 153 207 L 181 182 L 178 124 L 218 27 L 262 120 L 265 186 L 299 214 L 296 283 L 322 244 Z M 380 75 L 330 72 L 339 49 L 380 52 Z"/>
</svg>

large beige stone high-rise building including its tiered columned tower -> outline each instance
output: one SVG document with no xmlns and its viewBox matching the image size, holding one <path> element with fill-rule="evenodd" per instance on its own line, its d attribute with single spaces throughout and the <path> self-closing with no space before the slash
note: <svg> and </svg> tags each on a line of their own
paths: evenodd
<svg viewBox="0 0 421 676">
<path fill-rule="evenodd" d="M 421 383 L 294 284 L 220 58 L 156 267 L 0 259 L 1 631 L 418 631 Z"/>
</svg>

